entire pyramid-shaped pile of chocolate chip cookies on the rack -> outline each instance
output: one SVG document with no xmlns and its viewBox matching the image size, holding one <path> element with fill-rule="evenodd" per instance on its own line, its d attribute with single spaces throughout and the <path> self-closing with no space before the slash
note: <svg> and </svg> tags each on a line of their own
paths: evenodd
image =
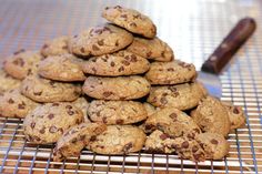
<svg viewBox="0 0 262 174">
<path fill-rule="evenodd" d="M 107 7 L 111 23 L 20 50 L 0 72 L 0 114 L 23 119 L 27 141 L 56 143 L 53 160 L 99 154 L 177 153 L 222 158 L 244 124 L 241 108 L 208 94 L 193 64 L 174 59 L 144 14 Z"/>
</svg>

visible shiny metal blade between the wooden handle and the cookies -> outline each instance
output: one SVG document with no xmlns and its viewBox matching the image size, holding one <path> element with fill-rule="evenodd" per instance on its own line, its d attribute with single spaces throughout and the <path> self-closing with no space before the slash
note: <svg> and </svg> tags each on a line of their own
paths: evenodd
<svg viewBox="0 0 262 174">
<path fill-rule="evenodd" d="M 219 99 L 221 98 L 222 86 L 218 75 L 199 71 L 198 81 L 204 84 L 204 88 L 209 91 L 209 94 Z"/>
</svg>

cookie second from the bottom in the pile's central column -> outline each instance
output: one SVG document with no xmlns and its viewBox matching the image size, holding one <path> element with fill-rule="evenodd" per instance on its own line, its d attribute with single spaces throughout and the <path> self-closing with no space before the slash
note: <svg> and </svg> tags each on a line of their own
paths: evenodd
<svg viewBox="0 0 262 174">
<path fill-rule="evenodd" d="M 144 105 L 133 101 L 93 100 L 88 114 L 91 121 L 104 124 L 131 124 L 148 117 Z"/>
</svg>

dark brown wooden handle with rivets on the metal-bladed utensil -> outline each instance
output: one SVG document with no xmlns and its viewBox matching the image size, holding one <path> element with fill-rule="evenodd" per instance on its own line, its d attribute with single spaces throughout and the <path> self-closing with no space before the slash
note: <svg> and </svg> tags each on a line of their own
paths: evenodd
<svg viewBox="0 0 262 174">
<path fill-rule="evenodd" d="M 239 48 L 254 32 L 255 25 L 255 21 L 252 18 L 241 19 L 203 63 L 201 70 L 219 74 Z"/>
</svg>

